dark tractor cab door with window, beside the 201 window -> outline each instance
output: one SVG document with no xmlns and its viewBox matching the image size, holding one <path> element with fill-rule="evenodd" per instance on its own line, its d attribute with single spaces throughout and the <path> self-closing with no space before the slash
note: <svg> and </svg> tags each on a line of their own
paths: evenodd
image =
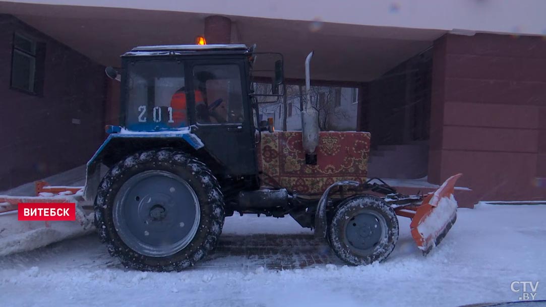
<svg viewBox="0 0 546 307">
<path fill-rule="evenodd" d="M 223 164 L 225 175 L 257 174 L 244 60 L 192 61 L 189 68 L 193 133 Z"/>
</svg>

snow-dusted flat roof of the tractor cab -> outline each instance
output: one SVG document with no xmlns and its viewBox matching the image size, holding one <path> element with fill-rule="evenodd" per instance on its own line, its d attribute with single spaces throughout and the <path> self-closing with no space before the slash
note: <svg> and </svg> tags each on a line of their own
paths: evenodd
<svg viewBox="0 0 546 307">
<path fill-rule="evenodd" d="M 249 49 L 246 45 L 158 45 L 138 46 L 123 56 L 158 56 L 176 54 L 246 54 Z"/>
</svg>

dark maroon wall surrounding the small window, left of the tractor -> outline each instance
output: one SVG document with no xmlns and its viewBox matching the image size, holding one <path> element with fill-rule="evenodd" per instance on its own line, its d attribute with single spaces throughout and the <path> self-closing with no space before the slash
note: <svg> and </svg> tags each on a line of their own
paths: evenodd
<svg viewBox="0 0 546 307">
<path fill-rule="evenodd" d="M 45 46 L 41 95 L 10 88 L 15 31 Z M 0 190 L 85 164 L 104 138 L 104 67 L 2 14 L 0 67 Z"/>
</svg>

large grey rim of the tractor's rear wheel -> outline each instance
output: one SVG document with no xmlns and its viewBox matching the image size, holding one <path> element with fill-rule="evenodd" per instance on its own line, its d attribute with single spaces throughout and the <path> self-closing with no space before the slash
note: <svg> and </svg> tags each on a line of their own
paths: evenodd
<svg viewBox="0 0 546 307">
<path fill-rule="evenodd" d="M 173 173 L 149 170 L 134 175 L 114 200 L 117 234 L 132 250 L 165 257 L 186 247 L 199 227 L 199 200 Z"/>
</svg>

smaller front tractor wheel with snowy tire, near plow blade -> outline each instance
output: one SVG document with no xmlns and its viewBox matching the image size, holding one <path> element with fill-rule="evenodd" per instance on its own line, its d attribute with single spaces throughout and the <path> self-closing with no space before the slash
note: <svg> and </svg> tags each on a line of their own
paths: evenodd
<svg viewBox="0 0 546 307">
<path fill-rule="evenodd" d="M 348 264 L 383 261 L 398 240 L 398 220 L 383 199 L 371 195 L 347 198 L 330 222 L 328 242 Z"/>
</svg>

